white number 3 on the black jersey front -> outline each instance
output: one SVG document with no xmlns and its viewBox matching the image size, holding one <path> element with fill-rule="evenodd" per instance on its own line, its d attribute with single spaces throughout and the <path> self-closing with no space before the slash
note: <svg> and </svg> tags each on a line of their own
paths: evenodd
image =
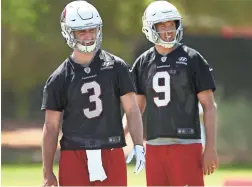
<svg viewBox="0 0 252 187">
<path fill-rule="evenodd" d="M 83 109 L 84 115 L 89 119 L 98 117 L 103 110 L 102 100 L 100 98 L 101 86 L 96 81 L 84 83 L 81 87 L 81 93 L 82 94 L 88 93 L 90 89 L 94 90 L 94 94 L 89 96 L 89 101 L 95 103 L 95 109 L 94 110 L 90 110 L 89 108 Z"/>
</svg>

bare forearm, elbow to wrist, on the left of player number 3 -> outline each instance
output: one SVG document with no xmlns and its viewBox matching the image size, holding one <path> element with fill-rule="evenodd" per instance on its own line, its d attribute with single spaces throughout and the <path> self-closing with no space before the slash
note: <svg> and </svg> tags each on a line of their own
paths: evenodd
<svg viewBox="0 0 252 187">
<path fill-rule="evenodd" d="M 53 171 L 53 161 L 58 144 L 59 131 L 56 129 L 43 129 L 42 139 L 42 160 L 43 173 L 47 174 Z"/>
</svg>

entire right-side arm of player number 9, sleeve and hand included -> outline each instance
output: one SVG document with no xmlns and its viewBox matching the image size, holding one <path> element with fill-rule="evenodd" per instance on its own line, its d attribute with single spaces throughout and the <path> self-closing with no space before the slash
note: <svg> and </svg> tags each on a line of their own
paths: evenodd
<svg viewBox="0 0 252 187">
<path fill-rule="evenodd" d="M 218 166 L 216 152 L 216 107 L 214 102 L 215 81 L 212 68 L 198 54 L 196 58 L 195 83 L 197 97 L 203 108 L 203 121 L 206 132 L 206 145 L 203 155 L 204 174 L 211 174 Z"/>
</svg>

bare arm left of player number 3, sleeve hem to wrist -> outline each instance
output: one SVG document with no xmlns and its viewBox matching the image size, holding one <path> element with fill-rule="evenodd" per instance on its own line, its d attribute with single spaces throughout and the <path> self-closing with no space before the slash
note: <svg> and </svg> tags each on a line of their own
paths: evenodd
<svg viewBox="0 0 252 187">
<path fill-rule="evenodd" d="M 53 173 L 53 161 L 58 144 L 61 112 L 46 110 L 42 135 L 42 160 L 44 176 Z"/>
</svg>

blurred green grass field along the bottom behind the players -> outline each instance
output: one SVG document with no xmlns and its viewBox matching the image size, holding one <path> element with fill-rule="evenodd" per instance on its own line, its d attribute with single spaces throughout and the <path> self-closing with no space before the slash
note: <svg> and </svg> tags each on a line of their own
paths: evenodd
<svg viewBox="0 0 252 187">
<path fill-rule="evenodd" d="M 128 166 L 128 184 L 145 185 L 145 172 L 133 174 L 134 165 Z M 55 166 L 57 174 L 57 166 Z M 205 177 L 206 185 L 222 186 L 226 179 L 252 179 L 251 167 L 220 167 Z M 38 186 L 42 182 L 41 165 L 2 165 L 2 186 Z"/>
</svg>

